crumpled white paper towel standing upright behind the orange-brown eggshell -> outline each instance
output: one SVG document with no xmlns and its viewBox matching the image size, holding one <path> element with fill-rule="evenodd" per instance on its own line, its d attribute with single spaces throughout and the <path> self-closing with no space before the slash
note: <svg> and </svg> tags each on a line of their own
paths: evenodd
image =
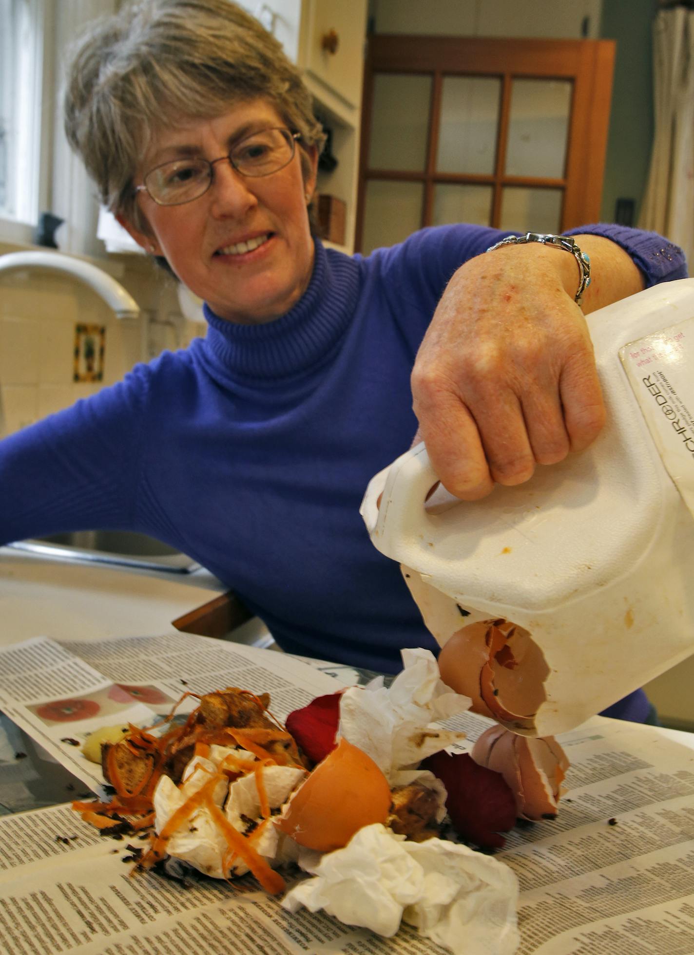
<svg viewBox="0 0 694 955">
<path fill-rule="evenodd" d="M 421 647 L 403 649 L 404 669 L 386 689 L 382 678 L 366 687 L 351 687 L 339 701 L 337 734 L 367 753 L 391 786 L 406 785 L 426 756 L 465 737 L 445 730 L 445 720 L 469 710 L 472 700 L 446 687 L 434 654 Z"/>
</svg>

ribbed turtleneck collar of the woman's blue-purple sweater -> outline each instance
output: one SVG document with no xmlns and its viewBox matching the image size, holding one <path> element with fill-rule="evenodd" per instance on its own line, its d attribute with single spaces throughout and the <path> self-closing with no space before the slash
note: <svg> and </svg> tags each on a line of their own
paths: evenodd
<svg viewBox="0 0 694 955">
<path fill-rule="evenodd" d="M 303 296 L 264 325 L 236 325 L 205 305 L 205 350 L 233 378 L 277 379 L 309 371 L 336 345 L 358 298 L 358 263 L 315 240 L 314 271 Z"/>
</svg>

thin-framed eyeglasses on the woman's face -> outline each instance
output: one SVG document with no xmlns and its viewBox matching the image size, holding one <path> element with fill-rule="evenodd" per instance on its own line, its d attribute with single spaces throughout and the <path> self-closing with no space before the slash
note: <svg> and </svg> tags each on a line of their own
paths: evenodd
<svg viewBox="0 0 694 955">
<path fill-rule="evenodd" d="M 219 159 L 172 159 L 150 169 L 135 192 L 146 192 L 158 205 L 182 205 L 204 196 L 212 184 L 215 162 L 228 159 L 237 173 L 249 178 L 271 176 L 292 161 L 300 133 L 263 129 L 236 143 Z"/>
</svg>

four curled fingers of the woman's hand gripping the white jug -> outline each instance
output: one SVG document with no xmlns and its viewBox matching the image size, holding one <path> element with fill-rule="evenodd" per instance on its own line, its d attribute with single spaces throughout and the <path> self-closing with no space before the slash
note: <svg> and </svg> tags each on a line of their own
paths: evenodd
<svg viewBox="0 0 694 955">
<path fill-rule="evenodd" d="M 468 361 L 457 374 L 413 374 L 418 436 L 451 494 L 476 500 L 494 483 L 520 484 L 596 438 L 605 411 L 590 340 L 578 339 L 565 363 L 516 348 L 495 371 Z"/>
</svg>

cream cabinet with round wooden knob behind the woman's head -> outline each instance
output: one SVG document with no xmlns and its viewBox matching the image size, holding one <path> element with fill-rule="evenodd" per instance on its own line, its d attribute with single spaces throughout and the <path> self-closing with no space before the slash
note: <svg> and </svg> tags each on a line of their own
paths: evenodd
<svg viewBox="0 0 694 955">
<path fill-rule="evenodd" d="M 318 172 L 317 191 L 346 204 L 345 241 L 354 248 L 359 128 L 367 0 L 237 0 L 282 44 L 314 96 L 314 112 L 333 134 L 332 172 Z"/>
</svg>

